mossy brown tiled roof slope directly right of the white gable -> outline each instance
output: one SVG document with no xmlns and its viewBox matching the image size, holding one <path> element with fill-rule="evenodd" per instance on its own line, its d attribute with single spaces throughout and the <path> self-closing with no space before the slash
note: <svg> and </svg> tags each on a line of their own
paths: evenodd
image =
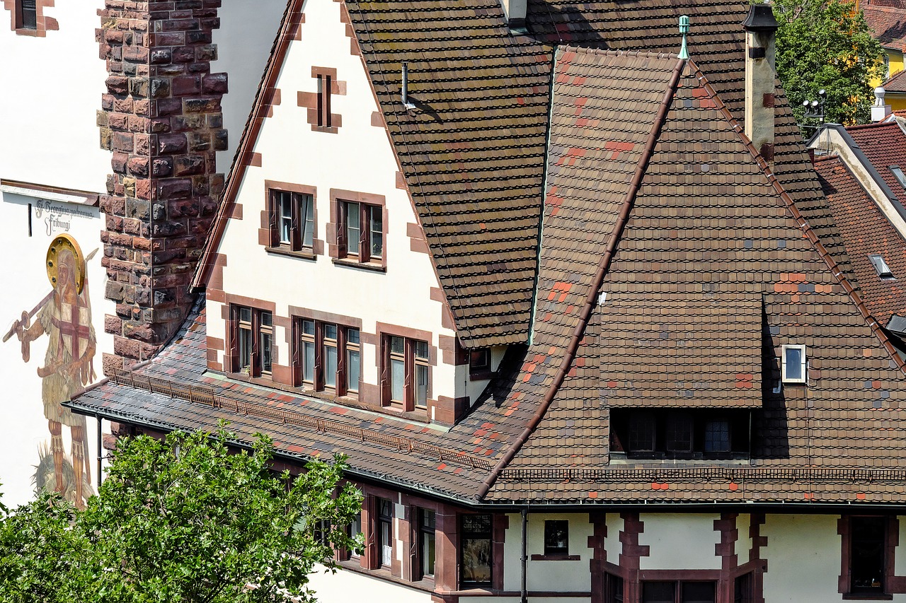
<svg viewBox="0 0 906 603">
<path fill-rule="evenodd" d="M 346 6 L 460 340 L 524 342 L 551 49 L 511 34 L 498 0 Z"/>
</svg>

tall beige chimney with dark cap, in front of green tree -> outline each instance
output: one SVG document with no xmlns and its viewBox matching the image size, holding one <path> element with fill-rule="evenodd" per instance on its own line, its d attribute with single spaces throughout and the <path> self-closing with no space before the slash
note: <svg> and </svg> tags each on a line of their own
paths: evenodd
<svg viewBox="0 0 906 603">
<path fill-rule="evenodd" d="M 766 161 L 774 160 L 775 33 L 771 5 L 752 5 L 746 21 L 746 136 Z"/>
</svg>

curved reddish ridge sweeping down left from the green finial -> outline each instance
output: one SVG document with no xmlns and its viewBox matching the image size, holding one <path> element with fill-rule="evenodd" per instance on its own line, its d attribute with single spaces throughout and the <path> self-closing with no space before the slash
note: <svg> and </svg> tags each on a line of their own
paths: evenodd
<svg viewBox="0 0 906 603">
<path fill-rule="evenodd" d="M 583 305 L 583 309 L 579 316 L 579 321 L 576 324 L 575 330 L 573 330 L 573 337 L 565 350 L 566 353 L 564 354 L 564 359 L 561 361 L 560 367 L 557 369 L 557 372 L 554 375 L 554 381 L 551 383 L 550 388 L 547 389 L 545 397 L 542 399 L 541 404 L 537 408 L 537 410 L 535 410 L 535 415 L 532 416 L 532 418 L 529 420 L 528 425 L 525 426 L 525 429 L 523 429 L 522 433 L 520 433 L 519 436 L 516 437 L 516 441 L 512 445 L 510 445 L 509 448 L 507 448 L 506 453 L 504 453 L 503 457 L 497 462 L 497 464 L 494 465 L 494 468 L 491 470 L 491 474 L 489 474 L 487 478 L 485 478 L 485 480 L 481 483 L 481 486 L 478 488 L 478 493 L 476 495 L 477 500 L 481 500 L 487 495 L 487 492 L 494 485 L 506 465 L 512 462 L 513 458 L 516 456 L 516 453 L 518 453 L 522 446 L 525 445 L 525 442 L 528 440 L 529 436 L 532 435 L 532 433 L 535 431 L 535 428 L 545 417 L 547 409 L 550 408 L 551 404 L 554 402 L 554 397 L 556 396 L 557 391 L 560 389 L 560 386 L 563 385 L 564 379 L 566 378 L 566 375 L 573 364 L 573 359 L 575 359 L 576 351 L 579 349 L 579 345 L 583 340 L 583 334 L 586 327 L 588 326 L 588 321 L 592 316 L 595 300 L 598 297 L 598 290 L 601 289 L 601 283 L 604 279 L 604 275 L 610 268 L 613 254 L 616 252 L 616 246 L 620 241 L 622 231 L 625 228 L 627 222 L 629 222 L 629 215 L 632 209 L 633 201 L 638 194 L 639 187 L 641 186 L 641 179 L 645 175 L 645 170 L 648 167 L 649 160 L 651 159 L 651 154 L 654 152 L 654 147 L 658 142 L 660 128 L 663 126 L 664 120 L 667 119 L 667 113 L 670 110 L 670 105 L 672 104 L 673 97 L 676 95 L 677 87 L 679 86 L 679 78 L 682 75 L 687 62 L 688 60 L 678 59 L 676 66 L 673 68 L 673 72 L 670 74 L 670 81 L 668 81 L 667 88 L 664 91 L 664 96 L 660 101 L 660 106 L 658 107 L 658 112 L 655 116 L 654 122 L 651 124 L 651 131 L 649 132 L 648 139 L 645 141 L 645 147 L 642 150 L 638 163 L 636 164 L 635 172 L 632 175 L 630 185 L 626 190 L 626 196 L 623 199 L 620 215 L 617 217 L 617 221 L 613 225 L 607 247 L 598 262 L 598 270 L 593 276 L 591 286 L 589 287 L 588 294 L 586 295 L 585 304 Z"/>
</svg>

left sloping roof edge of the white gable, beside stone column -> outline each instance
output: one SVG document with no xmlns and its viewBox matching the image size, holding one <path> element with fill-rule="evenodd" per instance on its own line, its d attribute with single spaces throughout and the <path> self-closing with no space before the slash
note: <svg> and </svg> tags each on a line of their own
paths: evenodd
<svg viewBox="0 0 906 603">
<path fill-rule="evenodd" d="M 289 50 L 289 44 L 294 38 L 294 28 L 302 23 L 302 5 L 304 0 L 289 0 L 286 4 L 286 10 L 280 20 L 280 27 L 271 45 L 271 53 L 267 57 L 265 72 L 261 75 L 261 81 L 258 83 L 258 90 L 255 91 L 255 101 L 252 102 L 252 110 L 248 114 L 246 127 L 242 130 L 242 136 L 239 144 L 236 146 L 236 155 L 233 156 L 233 164 L 226 176 L 223 194 L 217 206 L 217 215 L 214 216 L 214 222 L 207 233 L 205 246 L 202 247 L 201 257 L 198 259 L 198 266 L 192 277 L 191 287 L 198 288 L 207 279 L 210 269 L 214 266 L 211 261 L 212 255 L 217 252 L 217 244 L 224 234 L 226 220 L 229 214 L 226 212 L 227 206 L 234 206 L 236 195 L 239 192 L 239 185 L 246 175 L 246 156 L 255 146 L 258 135 L 261 132 L 261 126 L 264 123 L 265 106 L 271 101 L 267 91 L 273 90 L 276 79 L 280 74 L 280 67 L 286 59 L 286 53 Z"/>
</svg>

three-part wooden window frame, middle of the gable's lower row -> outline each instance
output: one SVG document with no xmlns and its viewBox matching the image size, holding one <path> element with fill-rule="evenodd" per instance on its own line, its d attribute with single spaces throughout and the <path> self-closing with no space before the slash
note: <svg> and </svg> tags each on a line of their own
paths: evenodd
<svg viewBox="0 0 906 603">
<path fill-rule="evenodd" d="M 304 332 L 304 322 L 314 324 L 314 334 Z M 324 327 L 333 325 L 337 329 L 337 339 L 329 340 L 324 336 Z M 359 333 L 359 343 L 349 344 L 349 336 L 352 331 Z M 328 343 L 325 343 L 327 341 Z M 311 343 L 314 347 L 314 365 L 313 379 L 305 379 L 305 355 L 304 343 Z M 333 342 L 337 350 L 337 370 L 335 376 L 335 385 L 330 387 L 326 385 L 324 375 L 324 346 Z M 348 387 L 347 363 L 349 357 L 348 351 L 359 352 L 359 383 L 355 389 Z M 313 318 L 303 316 L 293 316 L 293 387 L 309 388 L 313 391 L 333 391 L 338 397 L 359 397 L 361 391 L 361 329 L 359 327 L 349 327 L 342 323 L 334 321 L 318 321 Z"/>
</svg>

